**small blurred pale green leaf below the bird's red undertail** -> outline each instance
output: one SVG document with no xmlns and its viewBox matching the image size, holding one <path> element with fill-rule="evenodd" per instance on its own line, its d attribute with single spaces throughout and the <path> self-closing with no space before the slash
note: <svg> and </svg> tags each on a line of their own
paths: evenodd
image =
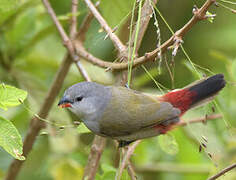
<svg viewBox="0 0 236 180">
<path fill-rule="evenodd" d="M 175 140 L 175 137 L 171 134 L 158 136 L 158 142 L 161 149 L 167 154 L 175 155 L 179 151 L 179 146 Z"/>
</svg>

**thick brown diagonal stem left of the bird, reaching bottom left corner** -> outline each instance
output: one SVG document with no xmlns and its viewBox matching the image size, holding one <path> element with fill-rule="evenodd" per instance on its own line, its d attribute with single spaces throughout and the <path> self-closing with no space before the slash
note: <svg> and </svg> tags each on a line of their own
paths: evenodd
<svg viewBox="0 0 236 180">
<path fill-rule="evenodd" d="M 56 99 L 56 96 L 61 89 L 63 81 L 66 77 L 66 74 L 69 71 L 70 65 L 71 65 L 71 59 L 69 58 L 69 56 L 66 56 L 60 66 L 60 69 L 58 70 L 56 74 L 56 77 L 52 83 L 52 86 L 49 89 L 47 96 L 44 99 L 44 102 L 38 113 L 38 116 L 40 118 L 43 118 L 43 119 L 47 118 L 48 113 L 51 110 L 51 107 L 53 105 L 53 102 Z M 36 140 L 36 137 L 39 134 L 39 131 L 44 126 L 45 126 L 44 122 L 40 121 L 37 117 L 33 117 L 31 119 L 30 127 L 23 143 L 23 155 L 25 157 L 27 157 L 29 152 L 32 150 L 32 146 Z M 16 159 L 13 160 L 13 162 L 11 163 L 8 169 L 6 180 L 14 180 L 16 176 L 18 175 L 23 163 L 24 161 L 19 161 Z"/>
</svg>

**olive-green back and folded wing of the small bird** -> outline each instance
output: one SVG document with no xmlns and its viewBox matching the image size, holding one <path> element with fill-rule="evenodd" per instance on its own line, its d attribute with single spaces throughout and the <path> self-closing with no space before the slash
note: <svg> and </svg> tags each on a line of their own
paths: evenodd
<svg viewBox="0 0 236 180">
<path fill-rule="evenodd" d="M 132 134 L 142 128 L 176 119 L 180 111 L 170 103 L 124 87 L 111 87 L 112 97 L 102 118 L 100 131 L 111 137 Z"/>
</svg>

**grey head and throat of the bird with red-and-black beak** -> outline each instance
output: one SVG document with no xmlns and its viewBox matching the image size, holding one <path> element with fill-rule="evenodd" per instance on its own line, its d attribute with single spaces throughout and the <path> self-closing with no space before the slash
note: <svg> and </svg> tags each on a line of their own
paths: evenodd
<svg viewBox="0 0 236 180">
<path fill-rule="evenodd" d="M 92 131 L 99 131 L 99 119 L 111 98 L 111 88 L 94 82 L 82 82 L 69 87 L 58 106 L 69 109 Z"/>
</svg>

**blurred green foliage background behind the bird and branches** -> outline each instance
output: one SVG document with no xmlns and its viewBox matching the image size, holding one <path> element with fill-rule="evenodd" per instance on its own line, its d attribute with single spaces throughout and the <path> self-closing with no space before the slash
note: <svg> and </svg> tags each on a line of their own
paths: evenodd
<svg viewBox="0 0 236 180">
<path fill-rule="evenodd" d="M 61 23 L 68 30 L 71 1 L 50 2 Z M 98 7 L 112 28 L 118 26 L 117 34 L 124 43 L 128 40 L 129 14 L 133 2 L 101 0 Z M 176 31 L 192 17 L 193 5 L 200 7 L 204 2 L 160 0 L 157 8 L 170 27 Z M 171 131 L 168 136 L 143 140 L 132 156 L 138 179 L 201 180 L 236 162 L 236 16 L 222 7 L 212 6 L 209 11 L 217 14 L 213 23 L 205 20 L 196 24 L 184 37 L 183 46 L 192 62 L 198 65 L 196 67 L 200 74 L 211 75 L 211 71 L 225 75 L 227 86 L 215 101 L 218 104 L 216 113 L 222 112 L 224 119 L 211 120 L 207 125 L 189 125 Z M 87 8 L 81 0 L 78 12 L 80 25 L 87 14 Z M 164 42 L 171 33 L 158 13 L 157 19 L 161 41 Z M 93 20 L 86 34 L 85 47 L 99 58 L 114 61 L 117 52 L 109 39 L 104 40 L 105 36 L 105 32 L 100 31 L 98 22 Z M 156 46 L 157 34 L 152 18 L 139 55 L 155 49 Z M 21 105 L 9 111 L 0 109 L 0 113 L 14 123 L 22 137 L 27 132 L 30 117 L 37 113 L 41 106 L 65 53 L 66 49 L 41 1 L 0 1 L 0 81 L 26 90 L 29 96 L 25 105 L 31 110 L 28 111 Z M 159 83 L 168 89 L 181 88 L 198 78 L 193 66 L 179 50 L 174 58 L 175 66 L 171 67 L 174 70 L 172 83 L 165 64 L 165 60 L 171 64 L 170 54 L 171 52 L 168 52 L 163 55 L 161 73 L 158 72 L 158 61 L 145 64 Z M 104 69 L 83 60 L 82 63 L 93 81 L 103 84 L 113 84 L 116 81 L 116 74 L 105 72 Z M 133 70 L 132 78 L 133 89 L 160 94 L 142 67 Z M 83 81 L 83 78 L 73 65 L 60 96 L 64 89 L 80 81 Z M 212 106 L 215 104 L 192 110 L 184 119 L 212 114 Z M 65 126 L 72 122 L 70 114 L 59 109 L 56 102 L 48 120 Z M 76 128 L 67 127 L 62 130 L 59 127 L 48 126 L 38 136 L 18 179 L 80 179 L 93 136 L 91 133 L 80 133 Z M 207 149 L 206 152 L 199 153 L 202 136 L 208 139 Z M 208 152 L 212 154 L 212 159 L 207 155 Z M 11 161 L 12 157 L 0 148 L 0 177 L 4 177 Z M 117 161 L 115 143 L 108 140 L 96 179 L 113 179 Z M 123 179 L 129 179 L 127 172 Z M 236 172 L 231 171 L 222 179 L 236 179 Z"/>
</svg>

